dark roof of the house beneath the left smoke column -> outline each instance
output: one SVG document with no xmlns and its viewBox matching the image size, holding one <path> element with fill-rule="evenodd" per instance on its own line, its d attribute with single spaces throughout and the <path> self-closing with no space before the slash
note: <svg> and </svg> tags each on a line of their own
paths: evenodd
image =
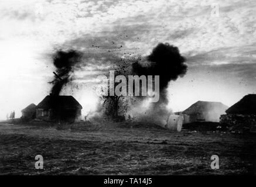
<svg viewBox="0 0 256 187">
<path fill-rule="evenodd" d="M 71 95 L 47 95 L 37 106 L 37 109 L 82 109 L 83 107 Z"/>
</svg>

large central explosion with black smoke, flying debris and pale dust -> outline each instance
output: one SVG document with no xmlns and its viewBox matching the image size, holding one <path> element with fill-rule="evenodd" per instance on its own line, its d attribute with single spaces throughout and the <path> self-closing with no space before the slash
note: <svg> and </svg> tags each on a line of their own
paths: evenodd
<svg viewBox="0 0 256 187">
<path fill-rule="evenodd" d="M 167 108 L 168 93 L 166 88 L 168 88 L 170 81 L 175 81 L 178 77 L 183 77 L 186 74 L 185 57 L 180 55 L 178 47 L 168 43 L 159 43 L 145 60 L 140 59 L 135 59 L 131 65 L 125 64 L 124 61 L 119 63 L 118 74 L 126 76 L 159 75 L 159 101 L 151 103 L 148 96 L 114 95 L 104 98 L 104 108 L 107 110 L 107 114 L 115 114 L 115 118 L 132 116 L 134 120 L 150 121 L 164 126 L 171 114 L 170 109 Z M 132 67 L 131 70 L 129 67 Z M 142 91 L 143 84 L 139 86 Z"/>
</svg>

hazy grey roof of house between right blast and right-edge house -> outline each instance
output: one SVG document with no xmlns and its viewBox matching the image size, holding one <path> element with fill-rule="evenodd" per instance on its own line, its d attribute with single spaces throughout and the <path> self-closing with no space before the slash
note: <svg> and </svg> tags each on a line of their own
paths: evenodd
<svg viewBox="0 0 256 187">
<path fill-rule="evenodd" d="M 197 101 L 182 113 L 186 115 L 194 115 L 197 113 L 209 112 L 211 110 L 215 110 L 218 113 L 225 113 L 227 108 L 228 106 L 221 102 Z"/>
</svg>

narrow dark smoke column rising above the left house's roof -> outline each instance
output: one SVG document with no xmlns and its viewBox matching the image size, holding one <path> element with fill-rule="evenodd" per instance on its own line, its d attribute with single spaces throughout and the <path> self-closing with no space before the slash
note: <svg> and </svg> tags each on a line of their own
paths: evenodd
<svg viewBox="0 0 256 187">
<path fill-rule="evenodd" d="M 71 72 L 73 72 L 74 67 L 78 65 L 81 61 L 82 53 L 75 50 L 69 51 L 56 51 L 53 54 L 53 64 L 56 67 L 57 76 L 54 77 L 52 94 L 59 95 L 60 91 L 67 82 L 71 81 Z"/>
</svg>

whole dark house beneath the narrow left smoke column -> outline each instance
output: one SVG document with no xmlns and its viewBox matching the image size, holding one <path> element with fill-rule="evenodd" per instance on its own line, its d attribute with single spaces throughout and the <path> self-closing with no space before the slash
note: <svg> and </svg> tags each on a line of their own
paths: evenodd
<svg viewBox="0 0 256 187">
<path fill-rule="evenodd" d="M 82 106 L 71 95 L 47 95 L 36 106 L 36 118 L 74 122 L 81 117 Z"/>
</svg>

